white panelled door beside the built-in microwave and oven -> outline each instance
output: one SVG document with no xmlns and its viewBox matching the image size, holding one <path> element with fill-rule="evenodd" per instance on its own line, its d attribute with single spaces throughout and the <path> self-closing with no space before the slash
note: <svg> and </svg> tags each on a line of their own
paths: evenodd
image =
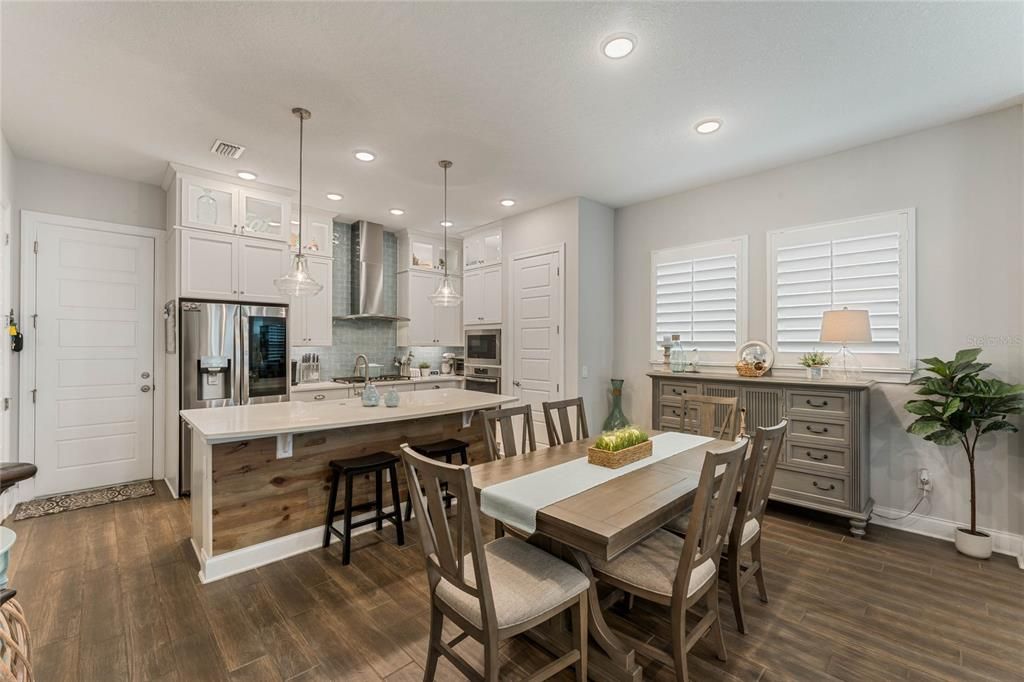
<svg viewBox="0 0 1024 682">
<path fill-rule="evenodd" d="M 544 444 L 541 403 L 562 396 L 562 298 L 560 251 L 512 260 L 512 385 L 516 397 L 532 407 Z"/>
</svg>

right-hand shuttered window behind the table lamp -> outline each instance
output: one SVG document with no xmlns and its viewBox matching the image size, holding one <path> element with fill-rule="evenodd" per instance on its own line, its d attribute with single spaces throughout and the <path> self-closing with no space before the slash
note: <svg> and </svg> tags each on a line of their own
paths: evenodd
<svg viewBox="0 0 1024 682">
<path fill-rule="evenodd" d="M 768 235 L 770 342 L 796 366 L 818 342 L 825 310 L 866 309 L 871 342 L 851 344 L 865 370 L 913 366 L 912 210 Z"/>
</svg>

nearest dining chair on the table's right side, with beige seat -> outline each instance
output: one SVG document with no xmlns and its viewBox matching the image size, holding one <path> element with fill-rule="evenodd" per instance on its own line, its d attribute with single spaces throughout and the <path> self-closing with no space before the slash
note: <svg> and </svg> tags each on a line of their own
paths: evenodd
<svg viewBox="0 0 1024 682">
<path fill-rule="evenodd" d="M 598 580 L 627 595 L 671 609 L 672 655 L 628 633 L 616 634 L 639 652 L 674 667 L 678 680 L 689 679 L 686 654 L 705 635 L 711 635 L 718 658 L 726 659 L 718 604 L 718 567 L 748 444 L 746 438 L 740 438 L 705 457 L 686 538 L 658 528 L 610 561 L 591 557 Z M 686 612 L 701 601 L 703 613 L 686 632 Z"/>
</svg>

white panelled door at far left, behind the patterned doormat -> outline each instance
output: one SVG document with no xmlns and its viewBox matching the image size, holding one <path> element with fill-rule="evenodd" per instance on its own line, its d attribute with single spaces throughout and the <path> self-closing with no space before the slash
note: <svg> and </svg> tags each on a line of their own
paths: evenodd
<svg viewBox="0 0 1024 682">
<path fill-rule="evenodd" d="M 155 242 L 57 221 L 36 241 L 36 495 L 152 478 Z"/>
</svg>

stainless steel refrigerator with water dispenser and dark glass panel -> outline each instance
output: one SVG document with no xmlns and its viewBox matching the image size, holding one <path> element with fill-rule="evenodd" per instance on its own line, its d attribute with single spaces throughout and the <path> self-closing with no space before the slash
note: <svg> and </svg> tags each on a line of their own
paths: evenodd
<svg viewBox="0 0 1024 682">
<path fill-rule="evenodd" d="M 288 306 L 181 301 L 181 410 L 288 399 Z M 178 493 L 191 487 L 191 427 L 180 420 Z"/>
</svg>

